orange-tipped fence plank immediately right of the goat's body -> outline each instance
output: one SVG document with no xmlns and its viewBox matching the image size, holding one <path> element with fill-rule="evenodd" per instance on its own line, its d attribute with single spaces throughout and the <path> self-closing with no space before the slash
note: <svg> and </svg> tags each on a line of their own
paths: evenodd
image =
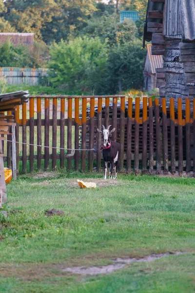
<svg viewBox="0 0 195 293">
<path fill-rule="evenodd" d="M 124 168 L 124 139 L 125 139 L 125 98 L 120 99 L 120 169 Z"/>
</svg>

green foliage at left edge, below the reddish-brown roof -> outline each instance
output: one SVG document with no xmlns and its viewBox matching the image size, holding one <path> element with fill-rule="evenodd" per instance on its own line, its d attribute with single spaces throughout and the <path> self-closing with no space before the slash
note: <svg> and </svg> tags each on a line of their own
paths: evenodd
<svg viewBox="0 0 195 293">
<path fill-rule="evenodd" d="M 33 67 L 34 65 L 34 59 L 26 47 L 14 47 L 9 41 L 0 46 L 0 67 Z"/>
</svg>

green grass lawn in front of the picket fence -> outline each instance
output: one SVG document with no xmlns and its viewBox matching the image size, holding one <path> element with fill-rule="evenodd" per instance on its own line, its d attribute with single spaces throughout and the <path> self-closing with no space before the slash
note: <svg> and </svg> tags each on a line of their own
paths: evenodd
<svg viewBox="0 0 195 293">
<path fill-rule="evenodd" d="M 51 175 L 51 174 L 50 174 Z M 57 172 L 20 176 L 0 215 L 0 293 L 195 292 L 195 179 Z M 97 182 L 79 189 L 77 179 Z M 63 214 L 47 216 L 47 209 Z M 67 267 L 181 251 L 110 274 Z"/>
</svg>

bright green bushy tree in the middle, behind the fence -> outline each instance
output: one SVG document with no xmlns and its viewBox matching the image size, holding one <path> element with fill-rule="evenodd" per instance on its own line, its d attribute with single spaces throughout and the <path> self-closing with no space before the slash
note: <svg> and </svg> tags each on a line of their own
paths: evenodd
<svg viewBox="0 0 195 293">
<path fill-rule="evenodd" d="M 107 60 L 107 44 L 96 38 L 78 37 L 60 41 L 50 49 L 50 81 L 54 86 L 70 90 L 98 91 Z"/>
</svg>

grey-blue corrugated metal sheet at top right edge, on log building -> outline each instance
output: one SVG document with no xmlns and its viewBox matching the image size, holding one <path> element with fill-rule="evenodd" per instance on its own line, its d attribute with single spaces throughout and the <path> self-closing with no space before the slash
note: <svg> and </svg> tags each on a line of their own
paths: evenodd
<svg viewBox="0 0 195 293">
<path fill-rule="evenodd" d="M 181 15 L 184 40 L 195 40 L 195 0 L 181 1 Z"/>
</svg>

